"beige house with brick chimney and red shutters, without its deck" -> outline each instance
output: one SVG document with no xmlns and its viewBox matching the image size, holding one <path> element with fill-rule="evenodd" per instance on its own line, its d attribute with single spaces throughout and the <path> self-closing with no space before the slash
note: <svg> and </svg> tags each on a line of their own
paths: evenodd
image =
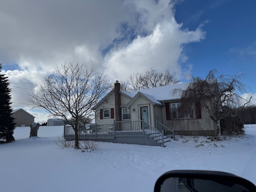
<svg viewBox="0 0 256 192">
<path fill-rule="evenodd" d="M 116 122 L 133 122 L 144 119 L 152 127 L 157 123 L 174 130 L 181 135 L 215 136 L 217 127 L 210 119 L 200 101 L 191 103 L 191 111 L 180 111 L 180 95 L 175 89 L 186 89 L 188 83 L 125 92 L 120 90 L 120 83 L 115 83 L 110 91 L 94 106 L 98 125 Z M 211 102 L 211 100 L 209 100 Z M 131 126 L 122 126 L 122 130 L 131 130 Z"/>
</svg>

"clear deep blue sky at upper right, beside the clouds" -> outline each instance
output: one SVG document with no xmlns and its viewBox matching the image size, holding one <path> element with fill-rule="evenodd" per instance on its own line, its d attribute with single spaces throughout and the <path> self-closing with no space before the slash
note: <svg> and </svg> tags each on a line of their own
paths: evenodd
<svg viewBox="0 0 256 192">
<path fill-rule="evenodd" d="M 206 38 L 184 45 L 193 76 L 216 69 L 223 74 L 243 70 L 245 83 L 256 92 L 256 1 L 184 0 L 176 6 L 176 20 L 193 30 L 203 22 Z"/>
</svg>

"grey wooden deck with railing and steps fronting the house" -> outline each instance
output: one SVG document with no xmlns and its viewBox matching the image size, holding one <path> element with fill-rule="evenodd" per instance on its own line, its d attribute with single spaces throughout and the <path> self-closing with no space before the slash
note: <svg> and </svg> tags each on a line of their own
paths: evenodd
<svg viewBox="0 0 256 192">
<path fill-rule="evenodd" d="M 94 140 L 123 144 L 139 144 L 149 146 L 165 146 L 164 143 L 174 138 L 174 131 L 159 126 L 161 130 L 141 121 L 113 122 L 113 124 L 91 124 L 80 126 L 79 140 Z M 64 138 L 74 140 L 72 126 L 64 126 Z"/>
</svg>

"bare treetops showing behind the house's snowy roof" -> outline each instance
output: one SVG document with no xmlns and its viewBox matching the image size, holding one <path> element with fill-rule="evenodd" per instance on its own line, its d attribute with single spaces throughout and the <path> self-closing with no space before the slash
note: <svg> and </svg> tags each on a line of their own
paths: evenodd
<svg viewBox="0 0 256 192">
<path fill-rule="evenodd" d="M 177 72 L 171 73 L 168 69 L 158 72 L 153 68 L 145 70 L 143 73 L 134 72 L 129 74 L 125 82 L 121 82 L 121 88 L 127 92 L 132 92 L 140 89 L 176 84 L 180 82 L 175 77 L 176 74 Z"/>
</svg>

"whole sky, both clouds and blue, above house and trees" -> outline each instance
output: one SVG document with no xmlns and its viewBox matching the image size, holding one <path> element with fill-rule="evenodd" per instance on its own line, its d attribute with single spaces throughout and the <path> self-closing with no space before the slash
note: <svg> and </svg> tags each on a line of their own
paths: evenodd
<svg viewBox="0 0 256 192">
<path fill-rule="evenodd" d="M 115 82 L 151 67 L 205 78 L 243 72 L 256 104 L 254 0 L 0 0 L 0 63 L 12 107 L 47 120 L 27 95 L 55 64 L 101 68 Z"/>
</svg>

